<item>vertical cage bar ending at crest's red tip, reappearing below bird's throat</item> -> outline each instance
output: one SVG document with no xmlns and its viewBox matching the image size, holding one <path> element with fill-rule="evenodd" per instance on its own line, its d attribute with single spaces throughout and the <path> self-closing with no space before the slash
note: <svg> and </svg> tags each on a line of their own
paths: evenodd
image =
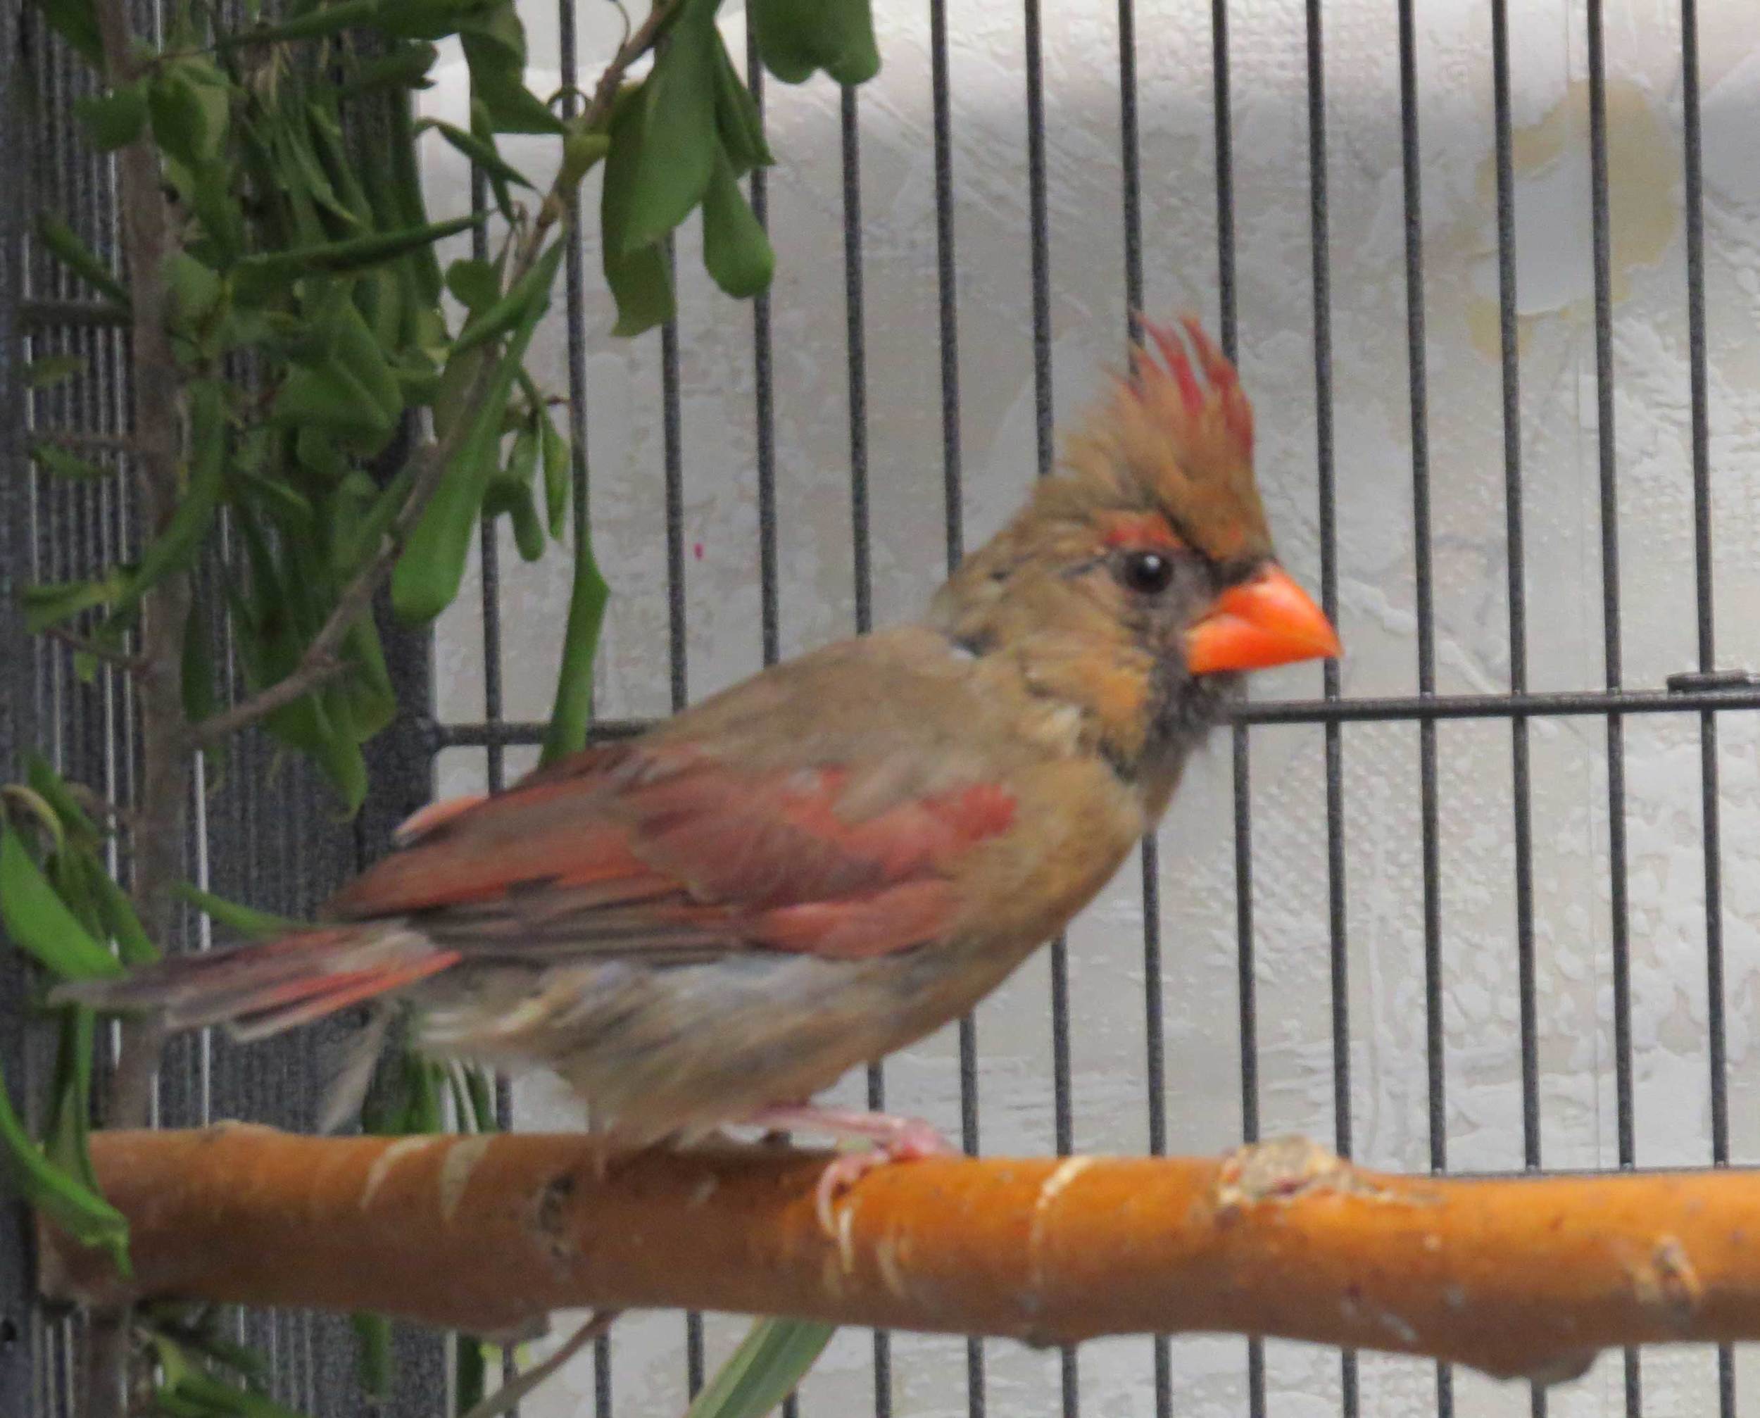
<svg viewBox="0 0 1760 1418">
<path fill-rule="evenodd" d="M 1216 322 L 1221 352 L 1239 361 L 1234 280 L 1234 113 L 1228 97 L 1228 0 L 1211 0 L 1211 111 L 1216 143 Z M 1234 755 L 1234 948 L 1241 1001 L 1241 1142 L 1258 1142 L 1258 982 L 1253 957 L 1253 792 L 1244 723 Z M 1265 1418 L 1265 1342 L 1246 1341 L 1248 1418 Z"/>
</svg>

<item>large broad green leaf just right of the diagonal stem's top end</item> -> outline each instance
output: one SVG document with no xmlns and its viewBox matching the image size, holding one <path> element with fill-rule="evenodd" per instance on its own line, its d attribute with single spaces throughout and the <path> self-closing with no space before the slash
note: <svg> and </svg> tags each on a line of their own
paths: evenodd
<svg viewBox="0 0 1760 1418">
<path fill-rule="evenodd" d="M 660 241 L 692 213 L 709 186 L 716 148 L 718 44 L 713 0 L 686 0 L 665 49 L 637 91 L 641 141 L 628 206 L 618 227 L 620 255 Z"/>
</svg>

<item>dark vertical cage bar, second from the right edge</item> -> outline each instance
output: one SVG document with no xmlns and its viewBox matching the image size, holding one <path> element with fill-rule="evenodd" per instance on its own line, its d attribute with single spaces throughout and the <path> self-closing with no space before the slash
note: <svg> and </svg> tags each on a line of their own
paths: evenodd
<svg viewBox="0 0 1760 1418">
<path fill-rule="evenodd" d="M 1602 633 L 1607 690 L 1619 690 L 1619 487 L 1614 447 L 1612 232 L 1607 190 L 1607 53 L 1602 0 L 1589 0 L 1589 230 L 1595 266 L 1595 408 L 1602 501 Z M 1614 957 L 1614 1094 L 1619 1166 L 1635 1165 L 1632 1107 L 1632 939 L 1626 899 L 1624 721 L 1607 716 L 1607 871 Z M 1644 1407 L 1639 1351 L 1624 1351 L 1626 1418 Z"/>
</svg>

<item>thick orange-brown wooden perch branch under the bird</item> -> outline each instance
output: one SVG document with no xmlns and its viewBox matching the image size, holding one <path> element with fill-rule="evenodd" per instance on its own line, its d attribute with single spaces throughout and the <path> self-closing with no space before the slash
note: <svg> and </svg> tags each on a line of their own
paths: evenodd
<svg viewBox="0 0 1760 1418">
<path fill-rule="evenodd" d="M 1603 1348 L 1760 1339 L 1760 1173 L 1438 1180 L 1299 1138 L 1216 1159 L 929 1159 L 827 1233 L 824 1154 L 595 1172 L 581 1137 L 104 1133 L 136 1279 L 49 1237 L 44 1290 L 387 1311 L 479 1334 L 693 1307 L 1014 1335 L 1258 1334 L 1575 1376 Z"/>
</svg>

